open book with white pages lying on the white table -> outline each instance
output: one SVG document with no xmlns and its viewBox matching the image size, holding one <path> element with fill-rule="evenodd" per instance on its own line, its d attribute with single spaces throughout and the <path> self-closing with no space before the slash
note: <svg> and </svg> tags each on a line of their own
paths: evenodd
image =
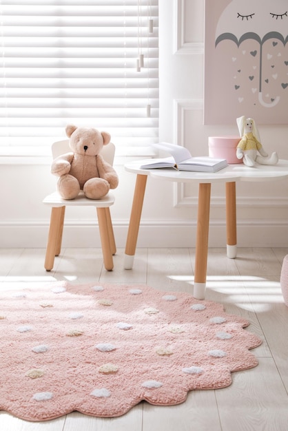
<svg viewBox="0 0 288 431">
<path fill-rule="evenodd" d="M 216 172 L 227 166 L 225 158 L 192 157 L 189 150 L 180 145 L 159 143 L 153 147 L 167 151 L 171 157 L 143 160 L 140 169 L 173 167 L 179 171 Z"/>
</svg>

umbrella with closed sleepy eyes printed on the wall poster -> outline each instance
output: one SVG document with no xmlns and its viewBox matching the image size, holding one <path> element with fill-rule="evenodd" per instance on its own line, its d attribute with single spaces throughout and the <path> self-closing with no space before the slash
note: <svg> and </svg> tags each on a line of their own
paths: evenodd
<svg viewBox="0 0 288 431">
<path fill-rule="evenodd" d="M 250 52 L 254 57 L 259 56 L 258 100 L 264 107 L 277 105 L 279 95 L 271 98 L 269 103 L 263 98 L 263 45 L 269 39 L 274 39 L 274 46 L 278 44 L 275 40 L 280 41 L 283 47 L 288 42 L 288 0 L 232 0 L 218 20 L 215 46 L 227 39 L 236 43 L 238 48 L 243 41 L 258 42 L 259 52 Z M 283 62 L 288 64 L 287 59 Z M 287 87 L 288 83 L 283 82 L 279 91 Z"/>
</svg>

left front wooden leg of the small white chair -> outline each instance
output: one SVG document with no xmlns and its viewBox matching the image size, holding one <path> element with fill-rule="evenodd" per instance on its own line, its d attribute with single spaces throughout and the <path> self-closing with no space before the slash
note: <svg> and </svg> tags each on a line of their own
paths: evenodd
<svg viewBox="0 0 288 431">
<path fill-rule="evenodd" d="M 56 251 L 58 251 L 57 248 L 59 248 L 59 243 L 61 243 L 59 237 L 61 237 L 63 231 L 63 224 L 61 228 L 61 223 L 63 223 L 64 212 L 65 207 L 64 211 L 63 207 L 53 207 L 51 209 L 50 228 L 44 263 L 44 268 L 46 271 L 51 271 L 54 266 Z"/>
</svg>

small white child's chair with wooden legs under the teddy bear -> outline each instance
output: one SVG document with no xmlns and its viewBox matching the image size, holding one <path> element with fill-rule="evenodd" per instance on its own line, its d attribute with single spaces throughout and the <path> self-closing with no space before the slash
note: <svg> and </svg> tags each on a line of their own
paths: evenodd
<svg viewBox="0 0 288 431">
<path fill-rule="evenodd" d="M 69 140 L 60 140 L 52 144 L 53 159 L 71 151 Z M 114 144 L 105 145 L 101 151 L 103 158 L 113 165 L 115 154 Z M 83 191 L 75 199 L 62 199 L 57 191 L 46 196 L 43 200 L 45 205 L 51 207 L 50 228 L 45 255 L 44 267 L 46 271 L 51 271 L 54 266 L 54 258 L 61 253 L 61 243 L 66 207 L 95 207 L 99 223 L 99 233 L 101 239 L 104 266 L 107 271 L 113 269 L 113 257 L 116 253 L 116 244 L 112 227 L 110 207 L 114 204 L 114 196 L 108 193 L 104 198 L 92 200 L 85 198 Z"/>
</svg>

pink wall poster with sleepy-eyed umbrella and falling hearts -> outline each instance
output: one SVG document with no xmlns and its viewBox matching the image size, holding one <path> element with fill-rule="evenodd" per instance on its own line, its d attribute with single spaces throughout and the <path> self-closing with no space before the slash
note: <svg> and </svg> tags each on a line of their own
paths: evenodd
<svg viewBox="0 0 288 431">
<path fill-rule="evenodd" d="M 205 0 L 204 123 L 288 124 L 288 0 Z"/>
</svg>

